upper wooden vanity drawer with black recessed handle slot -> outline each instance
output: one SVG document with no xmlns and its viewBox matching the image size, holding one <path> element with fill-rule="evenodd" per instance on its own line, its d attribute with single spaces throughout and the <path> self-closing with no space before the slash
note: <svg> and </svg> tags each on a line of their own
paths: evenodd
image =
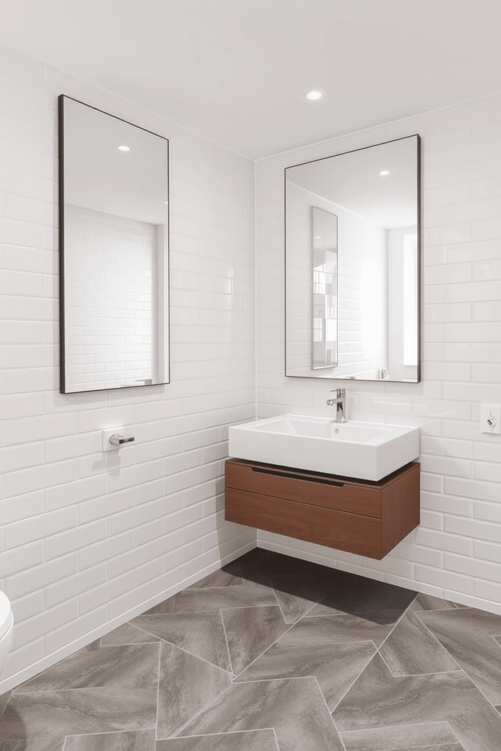
<svg viewBox="0 0 501 751">
<path fill-rule="evenodd" d="M 350 514 L 382 517 L 381 487 L 358 484 L 333 475 L 315 475 L 230 459 L 225 467 L 226 492 L 229 488 Z"/>
</svg>

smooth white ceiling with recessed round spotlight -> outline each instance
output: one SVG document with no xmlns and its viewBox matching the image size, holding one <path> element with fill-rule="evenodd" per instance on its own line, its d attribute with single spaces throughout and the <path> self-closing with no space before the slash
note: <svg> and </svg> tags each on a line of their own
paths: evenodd
<svg viewBox="0 0 501 751">
<path fill-rule="evenodd" d="M 0 0 L 0 18 L 5 44 L 253 158 L 501 89 L 499 0 Z"/>
</svg>

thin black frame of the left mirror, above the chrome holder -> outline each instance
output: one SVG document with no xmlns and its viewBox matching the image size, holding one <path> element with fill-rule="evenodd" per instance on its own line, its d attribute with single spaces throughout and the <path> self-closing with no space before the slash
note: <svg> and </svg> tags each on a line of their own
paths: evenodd
<svg viewBox="0 0 501 751">
<path fill-rule="evenodd" d="M 168 322 L 167 322 L 167 361 L 168 361 L 168 381 L 152 384 L 133 384 L 130 386 L 112 386 L 108 388 L 92 388 L 84 389 L 82 391 L 66 391 L 66 361 L 65 361 L 65 99 L 71 99 L 78 104 L 83 104 L 85 107 L 89 107 L 91 110 L 101 112 L 103 115 L 113 117 L 120 122 L 125 122 L 127 125 L 132 125 L 134 128 L 139 128 L 141 131 L 150 133 L 158 138 L 161 138 L 167 144 L 167 263 L 166 263 L 166 285 L 167 285 L 167 298 L 168 298 Z M 171 201 L 169 196 L 169 139 L 149 131 L 147 128 L 141 128 L 140 125 L 134 125 L 133 122 L 116 115 L 111 115 L 109 112 L 104 112 L 98 107 L 93 107 L 92 104 L 86 104 L 80 99 L 68 96 L 66 94 L 59 94 L 58 97 L 58 155 L 59 155 L 59 393 L 60 394 L 91 394 L 99 391 L 116 391 L 122 388 L 144 388 L 148 386 L 162 386 L 171 382 L 171 263 L 170 263 L 170 209 Z"/>
</svg>

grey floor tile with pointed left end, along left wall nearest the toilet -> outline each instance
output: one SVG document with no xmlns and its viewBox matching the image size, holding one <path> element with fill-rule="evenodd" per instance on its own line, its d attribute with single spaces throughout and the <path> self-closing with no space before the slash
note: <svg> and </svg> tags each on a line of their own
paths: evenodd
<svg viewBox="0 0 501 751">
<path fill-rule="evenodd" d="M 56 662 L 32 680 L 27 680 L 14 693 L 89 689 L 99 686 L 120 686 L 135 690 L 149 683 L 158 674 L 158 644 L 131 644 L 80 650 Z"/>
</svg>

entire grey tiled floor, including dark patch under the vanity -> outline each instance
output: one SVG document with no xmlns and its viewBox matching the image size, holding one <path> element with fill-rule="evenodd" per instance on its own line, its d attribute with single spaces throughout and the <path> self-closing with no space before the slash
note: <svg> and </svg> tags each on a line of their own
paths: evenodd
<svg viewBox="0 0 501 751">
<path fill-rule="evenodd" d="M 501 617 L 255 549 L 0 716 L 0 751 L 499 751 Z"/>
</svg>

